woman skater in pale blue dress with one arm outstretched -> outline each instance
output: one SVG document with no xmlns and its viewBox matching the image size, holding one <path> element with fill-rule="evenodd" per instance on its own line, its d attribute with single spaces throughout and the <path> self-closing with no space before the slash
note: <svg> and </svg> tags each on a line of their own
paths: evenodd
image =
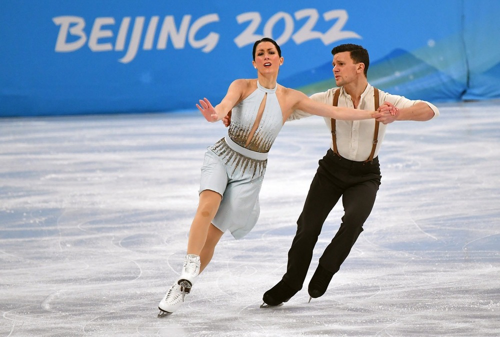
<svg viewBox="0 0 500 337">
<path fill-rule="evenodd" d="M 280 47 L 270 38 L 254 43 L 252 57 L 257 78 L 234 80 L 215 106 L 206 98 L 196 104 L 210 122 L 222 119 L 232 109 L 231 124 L 228 134 L 205 153 L 187 254 L 180 276 L 158 304 L 159 317 L 174 312 L 185 300 L 196 276 L 210 262 L 224 231 L 229 230 L 238 239 L 255 225 L 267 152 L 295 109 L 343 120 L 369 119 L 376 113 L 319 103 L 300 91 L 277 84 L 283 57 Z M 395 113 L 386 104 L 379 111 Z"/>
</svg>

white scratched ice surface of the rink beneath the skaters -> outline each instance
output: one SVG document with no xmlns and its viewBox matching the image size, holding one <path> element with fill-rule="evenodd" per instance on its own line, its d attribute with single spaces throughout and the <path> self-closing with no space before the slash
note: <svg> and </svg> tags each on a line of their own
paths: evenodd
<svg viewBox="0 0 500 337">
<path fill-rule="evenodd" d="M 394 122 L 374 209 L 326 293 L 260 309 L 285 272 L 328 144 L 320 117 L 284 125 L 261 213 L 226 233 L 186 302 L 157 318 L 179 274 L 207 145 L 196 111 L 0 119 L 0 336 L 498 336 L 500 101 L 438 104 Z"/>
</svg>

